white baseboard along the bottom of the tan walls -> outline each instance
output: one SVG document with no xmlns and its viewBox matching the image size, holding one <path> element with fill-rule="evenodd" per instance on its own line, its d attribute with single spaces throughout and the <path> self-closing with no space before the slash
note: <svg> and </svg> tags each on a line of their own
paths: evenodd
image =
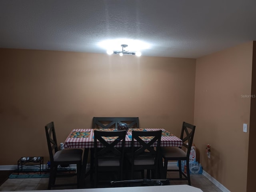
<svg viewBox="0 0 256 192">
<path fill-rule="evenodd" d="M 177 166 L 177 162 L 168 162 L 168 166 Z M 24 166 L 23 169 L 31 169 L 34 166 Z M 71 168 L 76 168 L 75 164 L 72 164 L 70 166 Z M 43 165 L 43 168 L 45 168 L 45 165 Z M 87 164 L 86 170 L 90 168 L 90 165 Z M 4 170 L 16 170 L 17 165 L 0 165 L 0 171 Z M 203 170 L 202 175 L 204 175 L 206 178 L 208 178 L 214 185 L 216 185 L 220 190 L 223 192 L 230 192 L 225 186 L 223 186 L 220 182 L 218 182 L 216 179 L 214 179 L 210 174 L 208 174 L 206 171 Z"/>
</svg>

